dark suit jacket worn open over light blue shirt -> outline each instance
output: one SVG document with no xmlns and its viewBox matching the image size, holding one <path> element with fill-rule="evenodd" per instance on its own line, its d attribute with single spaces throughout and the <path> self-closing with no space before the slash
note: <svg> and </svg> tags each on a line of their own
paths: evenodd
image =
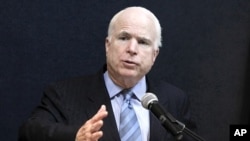
<svg viewBox="0 0 250 141">
<path fill-rule="evenodd" d="M 50 85 L 41 103 L 21 126 L 19 141 L 75 141 L 78 129 L 105 104 L 108 117 L 104 119 L 100 141 L 119 141 L 119 133 L 103 72 L 73 78 Z M 147 78 L 148 92 L 157 95 L 159 102 L 179 121 L 190 123 L 186 95 L 178 88 Z M 150 114 L 150 141 L 169 141 L 172 135 Z"/>
</svg>

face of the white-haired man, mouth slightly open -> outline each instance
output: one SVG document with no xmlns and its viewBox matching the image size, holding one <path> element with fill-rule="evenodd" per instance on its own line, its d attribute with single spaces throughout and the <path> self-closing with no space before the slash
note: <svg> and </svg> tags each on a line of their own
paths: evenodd
<svg viewBox="0 0 250 141">
<path fill-rule="evenodd" d="M 155 40 L 156 31 L 147 16 L 135 13 L 122 15 L 106 39 L 109 73 L 118 79 L 141 79 L 158 55 Z"/>
</svg>

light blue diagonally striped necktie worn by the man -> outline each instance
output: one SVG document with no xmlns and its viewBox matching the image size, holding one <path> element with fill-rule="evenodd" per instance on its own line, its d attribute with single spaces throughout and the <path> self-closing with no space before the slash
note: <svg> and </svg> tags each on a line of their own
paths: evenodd
<svg viewBox="0 0 250 141">
<path fill-rule="evenodd" d="M 122 91 L 124 101 L 120 113 L 119 134 L 121 141 L 141 141 L 141 130 L 133 106 L 130 103 L 134 93 L 130 90 Z"/>
</svg>

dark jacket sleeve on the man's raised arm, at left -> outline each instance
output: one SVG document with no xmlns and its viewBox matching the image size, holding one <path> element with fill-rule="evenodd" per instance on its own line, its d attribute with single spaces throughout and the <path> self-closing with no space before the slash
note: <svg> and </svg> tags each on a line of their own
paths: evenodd
<svg viewBox="0 0 250 141">
<path fill-rule="evenodd" d="M 19 141 L 75 141 L 79 127 L 69 126 L 61 93 L 50 86 L 39 106 L 19 129 Z"/>
</svg>

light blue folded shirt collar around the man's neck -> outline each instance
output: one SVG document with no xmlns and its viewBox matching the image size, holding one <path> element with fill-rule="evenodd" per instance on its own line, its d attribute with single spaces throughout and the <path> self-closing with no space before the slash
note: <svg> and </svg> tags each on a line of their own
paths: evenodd
<svg viewBox="0 0 250 141">
<path fill-rule="evenodd" d="M 120 86 L 117 86 L 109 77 L 108 71 L 106 71 L 104 74 L 104 81 L 106 88 L 109 93 L 109 97 L 112 99 L 115 97 L 120 91 L 122 91 L 123 88 Z M 144 96 L 147 90 L 147 85 L 146 85 L 146 78 L 145 76 L 142 77 L 142 79 L 132 88 L 132 91 L 134 92 L 135 96 L 137 99 L 140 101 L 141 98 Z"/>
</svg>

